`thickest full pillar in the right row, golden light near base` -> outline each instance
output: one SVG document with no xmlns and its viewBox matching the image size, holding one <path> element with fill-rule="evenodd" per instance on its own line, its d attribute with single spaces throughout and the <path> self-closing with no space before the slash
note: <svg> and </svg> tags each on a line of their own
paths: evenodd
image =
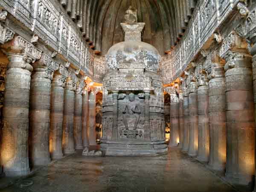
<svg viewBox="0 0 256 192">
<path fill-rule="evenodd" d="M 254 106 L 251 57 L 229 52 L 226 57 L 227 164 L 231 183 L 248 185 L 254 175 Z"/>
</svg>

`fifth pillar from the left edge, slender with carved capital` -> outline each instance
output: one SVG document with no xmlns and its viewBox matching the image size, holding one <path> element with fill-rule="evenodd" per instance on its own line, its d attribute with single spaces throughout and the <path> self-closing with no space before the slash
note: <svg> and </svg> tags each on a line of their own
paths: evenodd
<svg viewBox="0 0 256 192">
<path fill-rule="evenodd" d="M 74 138 L 75 148 L 83 149 L 82 145 L 82 90 L 84 82 L 78 82 L 75 94 L 75 112 L 74 112 Z"/>
</svg>

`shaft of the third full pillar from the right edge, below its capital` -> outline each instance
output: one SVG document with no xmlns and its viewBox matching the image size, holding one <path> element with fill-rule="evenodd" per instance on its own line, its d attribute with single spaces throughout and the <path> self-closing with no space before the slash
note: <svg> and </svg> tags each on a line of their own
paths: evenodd
<svg viewBox="0 0 256 192">
<path fill-rule="evenodd" d="M 209 160 L 209 117 L 208 86 L 198 87 L 198 157 L 203 162 Z"/>
</svg>

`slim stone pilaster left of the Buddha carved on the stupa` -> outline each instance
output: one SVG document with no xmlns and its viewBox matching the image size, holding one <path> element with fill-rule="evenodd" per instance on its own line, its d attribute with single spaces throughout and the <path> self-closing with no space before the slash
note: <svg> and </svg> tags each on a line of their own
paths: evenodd
<svg viewBox="0 0 256 192">
<path fill-rule="evenodd" d="M 117 129 L 117 119 L 118 119 L 118 91 L 113 91 L 113 127 L 112 127 L 112 136 L 111 140 L 118 139 L 118 129 Z"/>
</svg>

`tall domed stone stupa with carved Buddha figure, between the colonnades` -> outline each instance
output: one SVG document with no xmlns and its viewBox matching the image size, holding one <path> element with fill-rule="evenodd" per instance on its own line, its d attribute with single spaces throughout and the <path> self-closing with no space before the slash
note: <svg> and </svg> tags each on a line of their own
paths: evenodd
<svg viewBox="0 0 256 192">
<path fill-rule="evenodd" d="M 131 7 L 121 23 L 125 41 L 106 55 L 102 140 L 105 155 L 160 155 L 165 140 L 163 82 L 157 49 L 141 41 L 145 23 Z"/>
</svg>

